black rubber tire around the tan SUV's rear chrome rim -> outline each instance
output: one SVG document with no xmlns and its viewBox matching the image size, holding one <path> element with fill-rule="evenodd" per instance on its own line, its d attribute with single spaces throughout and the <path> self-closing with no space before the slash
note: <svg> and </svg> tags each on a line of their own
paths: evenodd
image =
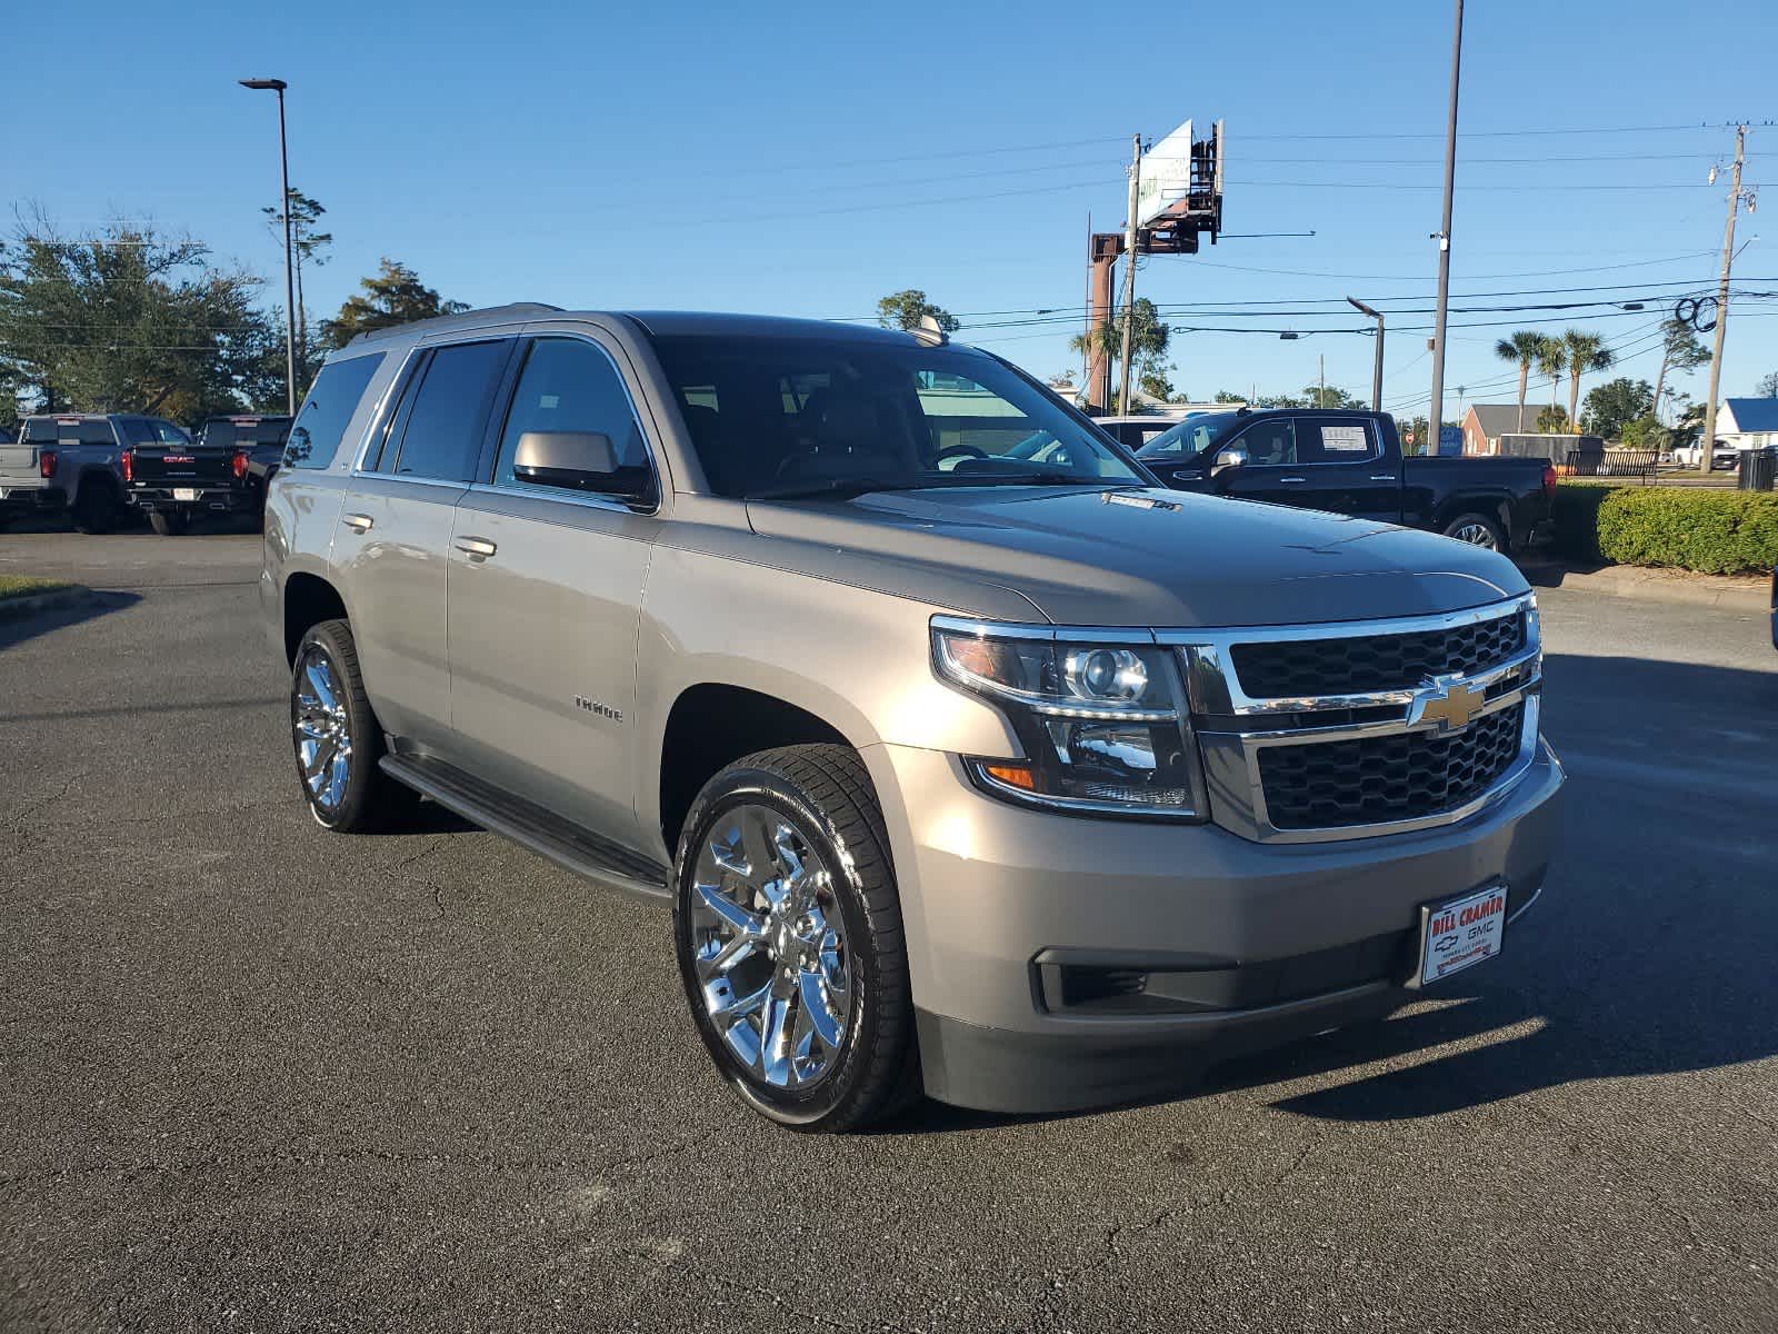
<svg viewBox="0 0 1778 1334">
<path fill-rule="evenodd" d="M 350 740 L 343 770 L 345 781 L 340 784 L 338 795 L 329 788 L 311 790 L 304 767 L 304 736 L 299 727 L 304 720 L 304 687 L 313 687 L 306 679 L 313 655 L 320 655 L 331 669 L 332 694 L 338 706 L 343 708 L 345 735 Z M 302 792 L 309 815 L 322 829 L 331 829 L 336 834 L 368 834 L 412 818 L 420 793 L 396 783 L 377 765 L 388 743 L 377 713 L 364 695 L 364 678 L 357 667 L 357 644 L 345 621 L 322 621 L 309 626 L 297 644 L 297 656 L 290 669 L 290 742 L 297 767 L 297 788 Z"/>
</svg>

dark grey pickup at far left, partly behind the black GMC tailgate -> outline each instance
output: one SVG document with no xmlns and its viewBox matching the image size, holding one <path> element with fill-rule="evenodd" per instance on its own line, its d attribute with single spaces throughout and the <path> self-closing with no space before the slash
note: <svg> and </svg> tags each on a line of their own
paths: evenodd
<svg viewBox="0 0 1778 1334">
<path fill-rule="evenodd" d="M 164 416 L 36 413 L 20 422 L 18 443 L 0 450 L 0 487 L 7 498 L 28 489 L 34 509 L 66 512 L 80 532 L 110 532 L 128 514 L 124 450 L 190 443 L 185 427 Z"/>
</svg>

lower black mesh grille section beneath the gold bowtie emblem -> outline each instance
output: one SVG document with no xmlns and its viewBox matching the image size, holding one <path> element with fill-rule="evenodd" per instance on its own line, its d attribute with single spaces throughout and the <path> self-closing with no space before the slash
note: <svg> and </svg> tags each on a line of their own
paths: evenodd
<svg viewBox="0 0 1778 1334">
<path fill-rule="evenodd" d="M 1465 806 L 1518 756 L 1524 704 L 1460 733 L 1392 733 L 1259 752 L 1266 813 L 1277 829 L 1417 820 Z"/>
</svg>

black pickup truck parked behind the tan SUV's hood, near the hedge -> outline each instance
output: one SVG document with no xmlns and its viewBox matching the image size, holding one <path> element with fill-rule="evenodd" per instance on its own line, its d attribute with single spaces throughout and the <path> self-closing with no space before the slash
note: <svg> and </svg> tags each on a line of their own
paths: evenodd
<svg viewBox="0 0 1778 1334">
<path fill-rule="evenodd" d="M 1492 551 L 1540 539 L 1556 498 L 1556 470 L 1543 459 L 1403 457 L 1389 413 L 1198 413 L 1136 457 L 1175 491 L 1355 514 Z"/>
</svg>

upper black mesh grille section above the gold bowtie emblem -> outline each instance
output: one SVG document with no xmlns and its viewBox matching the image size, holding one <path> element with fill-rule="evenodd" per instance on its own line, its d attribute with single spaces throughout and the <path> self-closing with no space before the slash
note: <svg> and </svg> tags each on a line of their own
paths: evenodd
<svg viewBox="0 0 1778 1334">
<path fill-rule="evenodd" d="M 1431 676 L 1494 667 L 1524 646 L 1526 617 L 1513 610 L 1449 630 L 1236 644 L 1230 658 L 1250 697 L 1294 699 L 1410 690 Z"/>
</svg>

